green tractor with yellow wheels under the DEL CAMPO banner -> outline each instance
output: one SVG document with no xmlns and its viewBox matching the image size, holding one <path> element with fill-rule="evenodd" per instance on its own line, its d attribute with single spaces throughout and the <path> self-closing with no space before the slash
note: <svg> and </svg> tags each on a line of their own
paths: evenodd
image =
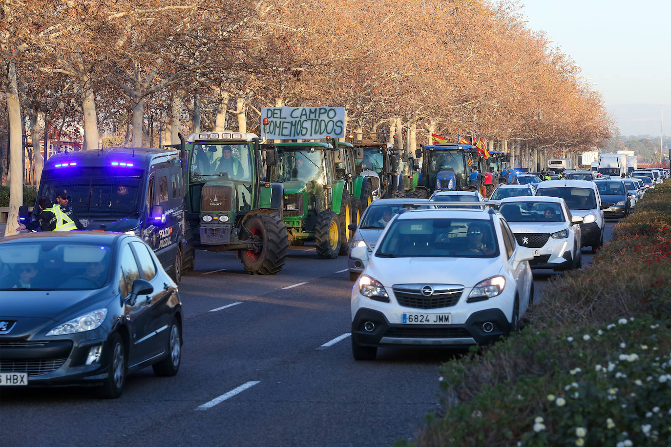
<svg viewBox="0 0 671 447">
<path fill-rule="evenodd" d="M 343 151 L 330 141 L 276 143 L 268 179 L 284 188 L 284 222 L 291 245 L 315 241 L 317 255 L 346 255 L 352 231 L 352 198 Z"/>
</svg>

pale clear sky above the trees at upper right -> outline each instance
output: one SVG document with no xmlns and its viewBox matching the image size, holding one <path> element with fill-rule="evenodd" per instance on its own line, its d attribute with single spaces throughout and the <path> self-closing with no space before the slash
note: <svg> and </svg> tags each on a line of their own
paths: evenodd
<svg viewBox="0 0 671 447">
<path fill-rule="evenodd" d="M 671 135 L 671 2 L 519 0 L 533 31 L 580 66 L 621 135 Z M 591 78 L 591 79 L 587 79 Z"/>
</svg>

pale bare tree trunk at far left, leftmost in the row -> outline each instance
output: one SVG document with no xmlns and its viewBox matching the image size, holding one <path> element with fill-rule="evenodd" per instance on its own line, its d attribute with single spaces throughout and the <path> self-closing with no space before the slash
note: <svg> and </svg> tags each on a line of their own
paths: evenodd
<svg viewBox="0 0 671 447">
<path fill-rule="evenodd" d="M 21 147 L 21 106 L 19 105 L 19 88 L 16 83 L 16 66 L 9 64 L 5 94 L 7 95 L 7 115 L 9 115 L 9 216 L 5 236 L 16 234 L 17 222 L 19 221 L 19 206 L 23 204 L 23 147 Z M 38 140 L 39 141 L 39 140 Z M 39 144 L 39 143 L 38 143 Z"/>
</svg>

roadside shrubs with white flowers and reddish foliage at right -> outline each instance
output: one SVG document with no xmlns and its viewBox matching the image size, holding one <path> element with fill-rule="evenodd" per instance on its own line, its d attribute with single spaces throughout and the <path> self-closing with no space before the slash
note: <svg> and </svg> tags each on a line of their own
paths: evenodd
<svg viewBox="0 0 671 447">
<path fill-rule="evenodd" d="M 524 330 L 440 368 L 420 446 L 659 446 L 671 440 L 671 182 L 583 270 L 552 279 Z"/>
</svg>

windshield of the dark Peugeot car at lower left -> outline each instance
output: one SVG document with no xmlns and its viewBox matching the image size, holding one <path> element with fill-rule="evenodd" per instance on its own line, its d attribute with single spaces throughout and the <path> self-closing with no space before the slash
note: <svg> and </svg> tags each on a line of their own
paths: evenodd
<svg viewBox="0 0 671 447">
<path fill-rule="evenodd" d="M 3 244 L 0 290 L 99 289 L 107 283 L 110 253 L 110 247 L 100 243 Z"/>
</svg>

